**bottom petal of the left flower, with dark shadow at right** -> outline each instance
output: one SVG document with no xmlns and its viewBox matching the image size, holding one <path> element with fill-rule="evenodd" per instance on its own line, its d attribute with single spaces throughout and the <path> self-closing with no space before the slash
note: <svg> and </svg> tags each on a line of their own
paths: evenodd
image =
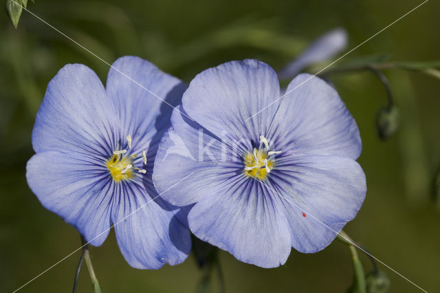
<svg viewBox="0 0 440 293">
<path fill-rule="evenodd" d="M 112 219 L 124 258 L 133 268 L 157 269 L 177 265 L 190 252 L 188 228 L 177 219 L 179 210 L 166 210 L 143 186 L 119 184 Z"/>
</svg>

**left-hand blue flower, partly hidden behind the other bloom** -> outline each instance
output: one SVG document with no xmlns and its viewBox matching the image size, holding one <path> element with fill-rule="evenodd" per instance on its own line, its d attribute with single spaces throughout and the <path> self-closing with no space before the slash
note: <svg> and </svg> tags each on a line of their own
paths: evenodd
<svg viewBox="0 0 440 293">
<path fill-rule="evenodd" d="M 70 64 L 50 81 L 36 115 L 30 188 L 91 245 L 100 246 L 116 224 L 120 250 L 134 268 L 175 265 L 190 251 L 181 210 L 154 199 L 151 180 L 173 109 L 158 97 L 178 105 L 186 87 L 133 56 L 113 63 L 105 89 L 89 67 Z"/>
</svg>

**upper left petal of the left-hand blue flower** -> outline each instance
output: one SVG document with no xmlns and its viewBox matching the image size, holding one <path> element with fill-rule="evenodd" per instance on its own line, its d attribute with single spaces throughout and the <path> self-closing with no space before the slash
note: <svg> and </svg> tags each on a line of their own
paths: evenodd
<svg viewBox="0 0 440 293">
<path fill-rule="evenodd" d="M 81 64 L 65 65 L 47 85 L 36 115 L 36 153 L 63 151 L 107 157 L 119 119 L 98 76 Z"/>
</svg>

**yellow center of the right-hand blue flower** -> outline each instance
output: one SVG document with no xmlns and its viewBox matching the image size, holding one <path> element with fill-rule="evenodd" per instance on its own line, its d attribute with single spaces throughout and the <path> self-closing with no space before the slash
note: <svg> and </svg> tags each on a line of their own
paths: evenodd
<svg viewBox="0 0 440 293">
<path fill-rule="evenodd" d="M 243 160 L 245 175 L 259 180 L 266 179 L 267 174 L 274 167 L 274 162 L 272 162 L 270 155 L 268 155 L 267 151 L 261 149 L 254 149 L 252 153 L 247 153 Z"/>
</svg>

